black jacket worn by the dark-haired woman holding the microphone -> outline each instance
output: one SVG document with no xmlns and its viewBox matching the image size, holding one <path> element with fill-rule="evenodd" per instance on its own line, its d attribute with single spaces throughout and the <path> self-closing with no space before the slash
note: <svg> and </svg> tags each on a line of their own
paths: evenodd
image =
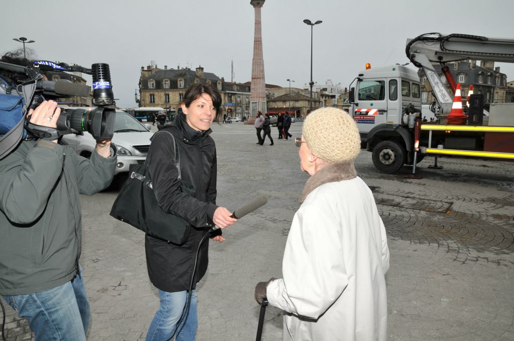
<svg viewBox="0 0 514 341">
<path fill-rule="evenodd" d="M 216 202 L 216 147 L 209 136 L 211 129 L 196 131 L 180 114 L 171 125 L 163 128 L 173 134 L 180 155 L 182 180 L 196 186 L 193 198 L 180 192 L 175 167 L 173 139 L 169 134 L 156 134 L 146 157 L 148 171 L 159 206 L 166 212 L 178 214 L 196 228 L 181 246 L 145 237 L 146 265 L 153 285 L 160 290 L 176 292 L 189 290 L 196 250 L 203 236 L 213 225 Z M 173 226 L 170 226 L 172 229 Z M 194 285 L 205 275 L 208 264 L 209 241 L 201 247 Z"/>
</svg>

